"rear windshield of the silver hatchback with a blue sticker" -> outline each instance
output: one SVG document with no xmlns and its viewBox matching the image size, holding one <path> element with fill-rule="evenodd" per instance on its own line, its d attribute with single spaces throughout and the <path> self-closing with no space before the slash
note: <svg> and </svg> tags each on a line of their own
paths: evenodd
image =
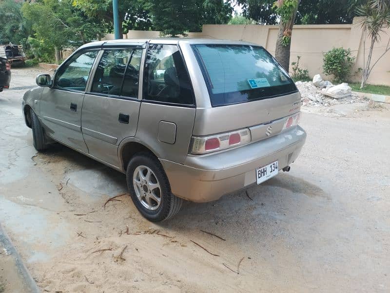
<svg viewBox="0 0 390 293">
<path fill-rule="evenodd" d="M 296 92 L 288 73 L 261 46 L 197 44 L 211 104 L 231 105 Z"/>
</svg>

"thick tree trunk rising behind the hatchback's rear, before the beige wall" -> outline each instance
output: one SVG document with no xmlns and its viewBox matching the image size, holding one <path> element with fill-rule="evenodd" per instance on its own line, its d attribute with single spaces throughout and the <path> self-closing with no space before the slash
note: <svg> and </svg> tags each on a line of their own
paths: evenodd
<svg viewBox="0 0 390 293">
<path fill-rule="evenodd" d="M 284 69 L 286 69 L 287 72 L 289 72 L 290 68 L 290 48 L 291 48 L 291 35 L 292 35 L 292 26 L 295 22 L 296 12 L 298 10 L 298 5 L 296 6 L 296 9 L 294 13 L 292 14 L 292 19 L 288 23 L 282 23 L 280 21 L 279 24 L 279 33 L 277 34 L 277 40 L 276 40 L 276 49 L 275 49 L 275 58 L 276 60 L 283 66 Z M 290 36 L 290 42 L 287 46 L 284 46 L 283 36 Z"/>
</svg>

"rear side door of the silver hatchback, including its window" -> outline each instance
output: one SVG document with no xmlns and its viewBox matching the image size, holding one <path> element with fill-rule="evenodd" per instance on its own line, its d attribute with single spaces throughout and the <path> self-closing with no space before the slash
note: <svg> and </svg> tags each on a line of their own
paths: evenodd
<svg viewBox="0 0 390 293">
<path fill-rule="evenodd" d="M 89 153 L 119 167 L 117 148 L 136 134 L 140 100 L 141 45 L 104 48 L 82 107 L 82 133 Z"/>
</svg>

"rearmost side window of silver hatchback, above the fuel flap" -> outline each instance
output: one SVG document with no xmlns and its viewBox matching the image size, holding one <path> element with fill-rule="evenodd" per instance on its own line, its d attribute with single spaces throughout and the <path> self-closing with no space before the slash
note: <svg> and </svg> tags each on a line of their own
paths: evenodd
<svg viewBox="0 0 390 293">
<path fill-rule="evenodd" d="M 149 46 L 143 86 L 145 100 L 194 105 L 190 78 L 176 45 Z"/>
</svg>

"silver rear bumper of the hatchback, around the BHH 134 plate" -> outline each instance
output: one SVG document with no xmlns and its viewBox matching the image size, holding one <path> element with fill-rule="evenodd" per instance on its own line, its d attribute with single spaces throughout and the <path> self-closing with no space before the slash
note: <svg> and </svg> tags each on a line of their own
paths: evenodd
<svg viewBox="0 0 390 293">
<path fill-rule="evenodd" d="M 188 155 L 185 164 L 160 160 L 172 193 L 193 202 L 210 202 L 256 182 L 255 169 L 278 160 L 279 171 L 299 155 L 306 132 L 293 127 L 247 146 L 202 156 Z"/>
</svg>

